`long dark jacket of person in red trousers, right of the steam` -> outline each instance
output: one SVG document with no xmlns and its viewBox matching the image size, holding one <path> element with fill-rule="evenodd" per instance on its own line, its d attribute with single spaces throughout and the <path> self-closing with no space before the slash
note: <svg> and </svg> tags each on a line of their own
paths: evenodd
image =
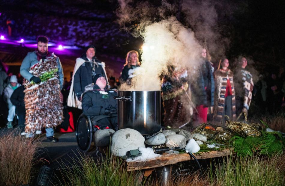
<svg viewBox="0 0 285 186">
<path fill-rule="evenodd" d="M 214 106 L 215 83 L 211 63 L 204 60 L 195 73 L 197 78 L 191 82 L 191 89 L 196 105 Z"/>
</svg>

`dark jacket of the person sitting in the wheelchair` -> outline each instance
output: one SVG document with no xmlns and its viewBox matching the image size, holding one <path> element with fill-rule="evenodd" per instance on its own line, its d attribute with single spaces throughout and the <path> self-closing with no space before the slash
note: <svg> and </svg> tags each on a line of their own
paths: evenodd
<svg viewBox="0 0 285 186">
<path fill-rule="evenodd" d="M 100 93 L 101 92 L 101 93 Z M 101 120 L 105 117 L 105 109 L 111 105 L 118 111 L 118 101 L 113 98 L 117 93 L 113 90 L 105 90 L 108 94 L 103 94 L 98 85 L 94 85 L 93 90 L 87 90 L 82 96 L 82 110 L 87 116 L 96 117 Z"/>
</svg>

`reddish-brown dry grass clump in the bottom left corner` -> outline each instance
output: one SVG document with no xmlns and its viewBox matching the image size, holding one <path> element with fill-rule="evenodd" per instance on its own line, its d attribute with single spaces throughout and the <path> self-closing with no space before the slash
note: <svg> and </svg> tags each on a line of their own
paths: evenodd
<svg viewBox="0 0 285 186">
<path fill-rule="evenodd" d="M 13 132 L 0 137 L 0 185 L 25 185 L 31 179 L 38 142 Z"/>
</svg>

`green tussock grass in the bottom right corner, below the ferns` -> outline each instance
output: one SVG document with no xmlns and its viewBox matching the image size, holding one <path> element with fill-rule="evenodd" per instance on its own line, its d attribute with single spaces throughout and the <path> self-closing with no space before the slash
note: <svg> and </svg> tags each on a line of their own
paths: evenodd
<svg viewBox="0 0 285 186">
<path fill-rule="evenodd" d="M 211 185 L 285 185 L 285 155 L 270 159 L 247 157 L 233 159 L 227 163 L 214 164 L 216 170 L 208 170 Z M 225 161 L 224 161 L 225 162 Z"/>
</svg>

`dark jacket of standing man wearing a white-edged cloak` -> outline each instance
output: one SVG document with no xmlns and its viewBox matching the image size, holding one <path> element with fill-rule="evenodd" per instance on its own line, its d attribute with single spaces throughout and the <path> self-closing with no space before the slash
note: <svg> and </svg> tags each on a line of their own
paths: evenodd
<svg viewBox="0 0 285 186">
<path fill-rule="evenodd" d="M 78 98 L 84 92 L 85 86 L 92 83 L 92 78 L 93 78 L 92 77 L 91 63 L 88 62 L 88 59 L 86 57 L 81 57 L 81 58 L 83 60 L 85 60 L 86 62 L 83 63 L 79 67 L 79 69 L 76 71 L 76 73 L 74 75 L 74 80 L 73 80 L 74 92 Z M 107 75 L 105 74 L 105 72 L 102 68 L 101 61 L 98 60 L 96 57 L 93 58 L 93 61 L 98 63 L 97 65 L 95 64 L 95 73 L 96 74 L 102 74 L 107 79 Z"/>
</svg>

